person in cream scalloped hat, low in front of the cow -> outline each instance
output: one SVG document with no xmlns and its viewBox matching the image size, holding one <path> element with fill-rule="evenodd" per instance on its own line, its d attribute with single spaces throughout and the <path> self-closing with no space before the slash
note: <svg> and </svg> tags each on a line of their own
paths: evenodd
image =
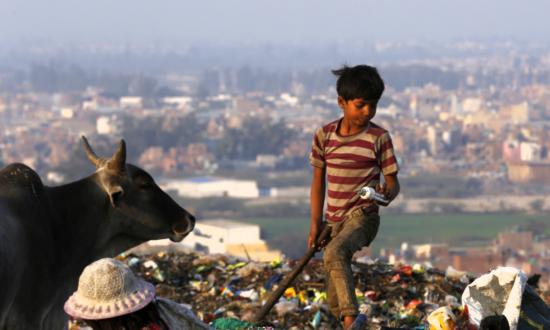
<svg viewBox="0 0 550 330">
<path fill-rule="evenodd" d="M 64 309 L 73 320 L 93 330 L 210 329 L 184 306 L 155 297 L 153 284 L 112 258 L 84 268 L 78 289 Z M 76 325 L 70 329 L 85 328 Z"/>
</svg>

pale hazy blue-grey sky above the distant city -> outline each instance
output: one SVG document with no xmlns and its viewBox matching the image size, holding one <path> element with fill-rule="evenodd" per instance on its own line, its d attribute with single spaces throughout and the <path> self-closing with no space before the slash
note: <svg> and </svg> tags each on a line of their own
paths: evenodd
<svg viewBox="0 0 550 330">
<path fill-rule="evenodd" d="M 550 42 L 544 0 L 0 0 L 0 46 L 519 39 Z"/>
</svg>

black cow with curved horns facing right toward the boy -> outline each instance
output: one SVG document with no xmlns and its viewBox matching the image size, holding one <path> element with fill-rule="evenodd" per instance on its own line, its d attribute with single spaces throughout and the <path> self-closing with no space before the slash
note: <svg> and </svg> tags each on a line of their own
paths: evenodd
<svg viewBox="0 0 550 330">
<path fill-rule="evenodd" d="M 195 218 L 142 169 L 120 142 L 97 171 L 46 187 L 23 164 L 0 170 L 0 329 L 62 329 L 63 303 L 91 262 L 151 239 L 181 241 Z"/>
</svg>

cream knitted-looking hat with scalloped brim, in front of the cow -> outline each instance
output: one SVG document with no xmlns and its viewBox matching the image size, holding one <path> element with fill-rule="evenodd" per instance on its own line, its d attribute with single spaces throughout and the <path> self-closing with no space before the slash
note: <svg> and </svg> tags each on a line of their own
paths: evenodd
<svg viewBox="0 0 550 330">
<path fill-rule="evenodd" d="M 104 258 L 84 268 L 78 290 L 65 302 L 65 312 L 86 320 L 112 318 L 140 310 L 154 297 L 151 283 L 122 262 Z"/>
</svg>

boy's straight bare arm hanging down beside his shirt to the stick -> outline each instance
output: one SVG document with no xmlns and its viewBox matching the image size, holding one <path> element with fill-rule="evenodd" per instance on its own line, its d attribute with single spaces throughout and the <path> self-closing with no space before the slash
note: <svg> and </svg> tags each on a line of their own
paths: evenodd
<svg viewBox="0 0 550 330">
<path fill-rule="evenodd" d="M 308 248 L 315 244 L 317 236 L 321 232 L 323 221 L 323 206 L 325 204 L 325 169 L 313 167 L 313 177 L 311 178 L 310 193 L 310 211 L 311 224 L 309 227 L 309 237 L 307 240 Z"/>
</svg>

